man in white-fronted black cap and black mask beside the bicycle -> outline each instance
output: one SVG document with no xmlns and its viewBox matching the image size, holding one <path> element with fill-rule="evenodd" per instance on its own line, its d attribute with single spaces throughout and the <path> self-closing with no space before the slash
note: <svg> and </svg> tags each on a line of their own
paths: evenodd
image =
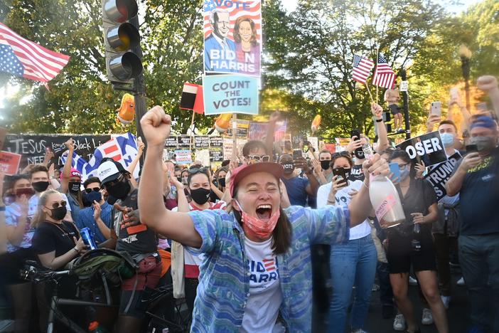
<svg viewBox="0 0 499 333">
<path fill-rule="evenodd" d="M 137 197 L 139 190 L 130 183 L 130 174 L 122 164 L 105 158 L 97 170 L 102 186 L 109 196 L 118 200 L 112 209 L 114 228 L 111 238 L 116 240 L 116 250 L 127 252 L 138 268 L 129 279 L 122 281 L 119 319 L 116 332 L 139 332 L 151 291 L 161 277 L 161 257 L 157 252 L 156 233 L 140 223 Z M 102 246 L 111 247 L 112 243 Z"/>
</svg>

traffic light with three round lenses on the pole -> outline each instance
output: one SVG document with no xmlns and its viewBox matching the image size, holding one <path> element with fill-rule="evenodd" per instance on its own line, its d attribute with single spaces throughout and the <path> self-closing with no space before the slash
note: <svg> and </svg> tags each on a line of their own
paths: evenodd
<svg viewBox="0 0 499 333">
<path fill-rule="evenodd" d="M 142 73 L 138 10 L 134 0 L 102 0 L 106 70 L 112 83 L 130 85 Z"/>
</svg>

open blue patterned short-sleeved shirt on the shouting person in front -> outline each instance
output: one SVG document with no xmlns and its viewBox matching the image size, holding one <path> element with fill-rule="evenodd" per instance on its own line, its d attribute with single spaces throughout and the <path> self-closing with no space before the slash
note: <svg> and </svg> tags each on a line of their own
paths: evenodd
<svg viewBox="0 0 499 333">
<path fill-rule="evenodd" d="M 283 302 L 279 309 L 289 332 L 311 331 L 312 268 L 310 245 L 348 241 L 350 212 L 326 206 L 313 210 L 291 206 L 284 210 L 292 226 L 289 250 L 277 255 Z M 239 332 L 250 295 L 250 271 L 244 232 L 232 213 L 192 211 L 195 230 L 205 253 L 200 265 L 191 332 Z"/>
</svg>

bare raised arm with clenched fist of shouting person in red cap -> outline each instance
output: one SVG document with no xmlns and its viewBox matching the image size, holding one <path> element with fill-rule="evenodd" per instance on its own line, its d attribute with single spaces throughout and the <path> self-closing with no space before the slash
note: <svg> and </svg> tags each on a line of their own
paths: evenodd
<svg viewBox="0 0 499 333">
<path fill-rule="evenodd" d="M 165 139 L 170 135 L 171 117 L 159 106 L 149 110 L 140 121 L 147 143 L 147 154 L 139 186 L 141 222 L 157 233 L 183 245 L 200 248 L 202 240 L 188 213 L 168 211 L 163 204 L 161 157 Z"/>
</svg>

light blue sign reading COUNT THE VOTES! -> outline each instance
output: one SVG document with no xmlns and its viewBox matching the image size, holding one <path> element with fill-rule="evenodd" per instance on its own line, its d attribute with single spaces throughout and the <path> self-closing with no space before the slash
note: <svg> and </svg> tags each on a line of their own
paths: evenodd
<svg viewBox="0 0 499 333">
<path fill-rule="evenodd" d="M 204 76 L 203 90 L 205 115 L 258 115 L 258 78 L 245 75 Z"/>
</svg>

